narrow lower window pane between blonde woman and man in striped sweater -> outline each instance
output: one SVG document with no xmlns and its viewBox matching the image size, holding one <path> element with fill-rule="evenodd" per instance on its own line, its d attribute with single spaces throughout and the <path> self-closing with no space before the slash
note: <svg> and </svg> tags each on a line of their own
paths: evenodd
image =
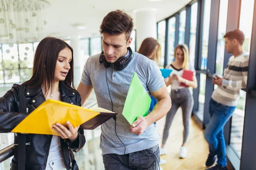
<svg viewBox="0 0 256 170">
<path fill-rule="evenodd" d="M 205 99 L 205 83 L 206 83 L 206 74 L 200 74 L 199 82 L 199 98 L 198 98 L 198 118 L 203 121 L 204 119 L 204 99 Z"/>
</svg>

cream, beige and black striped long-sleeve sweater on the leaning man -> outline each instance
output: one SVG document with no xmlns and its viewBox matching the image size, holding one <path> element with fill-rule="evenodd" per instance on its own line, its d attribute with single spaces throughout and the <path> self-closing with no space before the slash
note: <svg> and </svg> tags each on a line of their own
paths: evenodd
<svg viewBox="0 0 256 170">
<path fill-rule="evenodd" d="M 212 99 L 227 106 L 236 106 L 240 89 L 246 88 L 249 64 L 249 53 L 243 52 L 237 57 L 230 57 L 224 69 L 222 85 L 213 93 Z"/>
</svg>

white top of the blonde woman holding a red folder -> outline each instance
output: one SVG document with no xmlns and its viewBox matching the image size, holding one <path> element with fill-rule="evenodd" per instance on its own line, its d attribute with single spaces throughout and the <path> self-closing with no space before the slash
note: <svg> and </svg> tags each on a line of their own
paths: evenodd
<svg viewBox="0 0 256 170">
<path fill-rule="evenodd" d="M 176 74 L 177 76 L 180 76 L 180 77 L 182 77 L 182 75 L 183 75 L 183 68 L 177 69 L 172 64 L 171 65 L 166 65 L 166 68 L 172 70 L 172 73 L 170 75 Z M 194 75 L 195 75 L 195 68 L 194 67 L 189 66 L 189 70 L 193 71 Z M 180 82 L 178 82 L 177 80 L 175 80 L 175 79 L 172 80 L 172 84 L 171 84 L 171 89 L 172 90 L 181 89 L 181 88 L 186 88 L 186 87 L 180 86 Z"/>
</svg>

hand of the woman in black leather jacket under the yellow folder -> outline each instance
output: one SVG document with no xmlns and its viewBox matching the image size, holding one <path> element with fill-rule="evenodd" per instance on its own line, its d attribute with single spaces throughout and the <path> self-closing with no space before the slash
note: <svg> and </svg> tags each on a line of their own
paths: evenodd
<svg viewBox="0 0 256 170">
<path fill-rule="evenodd" d="M 53 125 L 52 129 L 55 130 L 62 139 L 70 139 L 70 141 L 73 142 L 77 139 L 79 126 L 74 128 L 70 122 L 67 121 L 66 123 L 69 129 L 60 123 Z"/>
</svg>

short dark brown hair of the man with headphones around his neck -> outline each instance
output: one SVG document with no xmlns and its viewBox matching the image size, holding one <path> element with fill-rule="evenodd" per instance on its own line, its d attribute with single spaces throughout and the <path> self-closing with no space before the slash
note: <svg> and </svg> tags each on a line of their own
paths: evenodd
<svg viewBox="0 0 256 170">
<path fill-rule="evenodd" d="M 109 12 L 100 25 L 100 34 L 106 33 L 109 35 L 118 35 L 125 33 L 126 40 L 128 41 L 133 30 L 134 23 L 130 15 L 124 11 L 117 9 L 116 11 Z"/>
</svg>

